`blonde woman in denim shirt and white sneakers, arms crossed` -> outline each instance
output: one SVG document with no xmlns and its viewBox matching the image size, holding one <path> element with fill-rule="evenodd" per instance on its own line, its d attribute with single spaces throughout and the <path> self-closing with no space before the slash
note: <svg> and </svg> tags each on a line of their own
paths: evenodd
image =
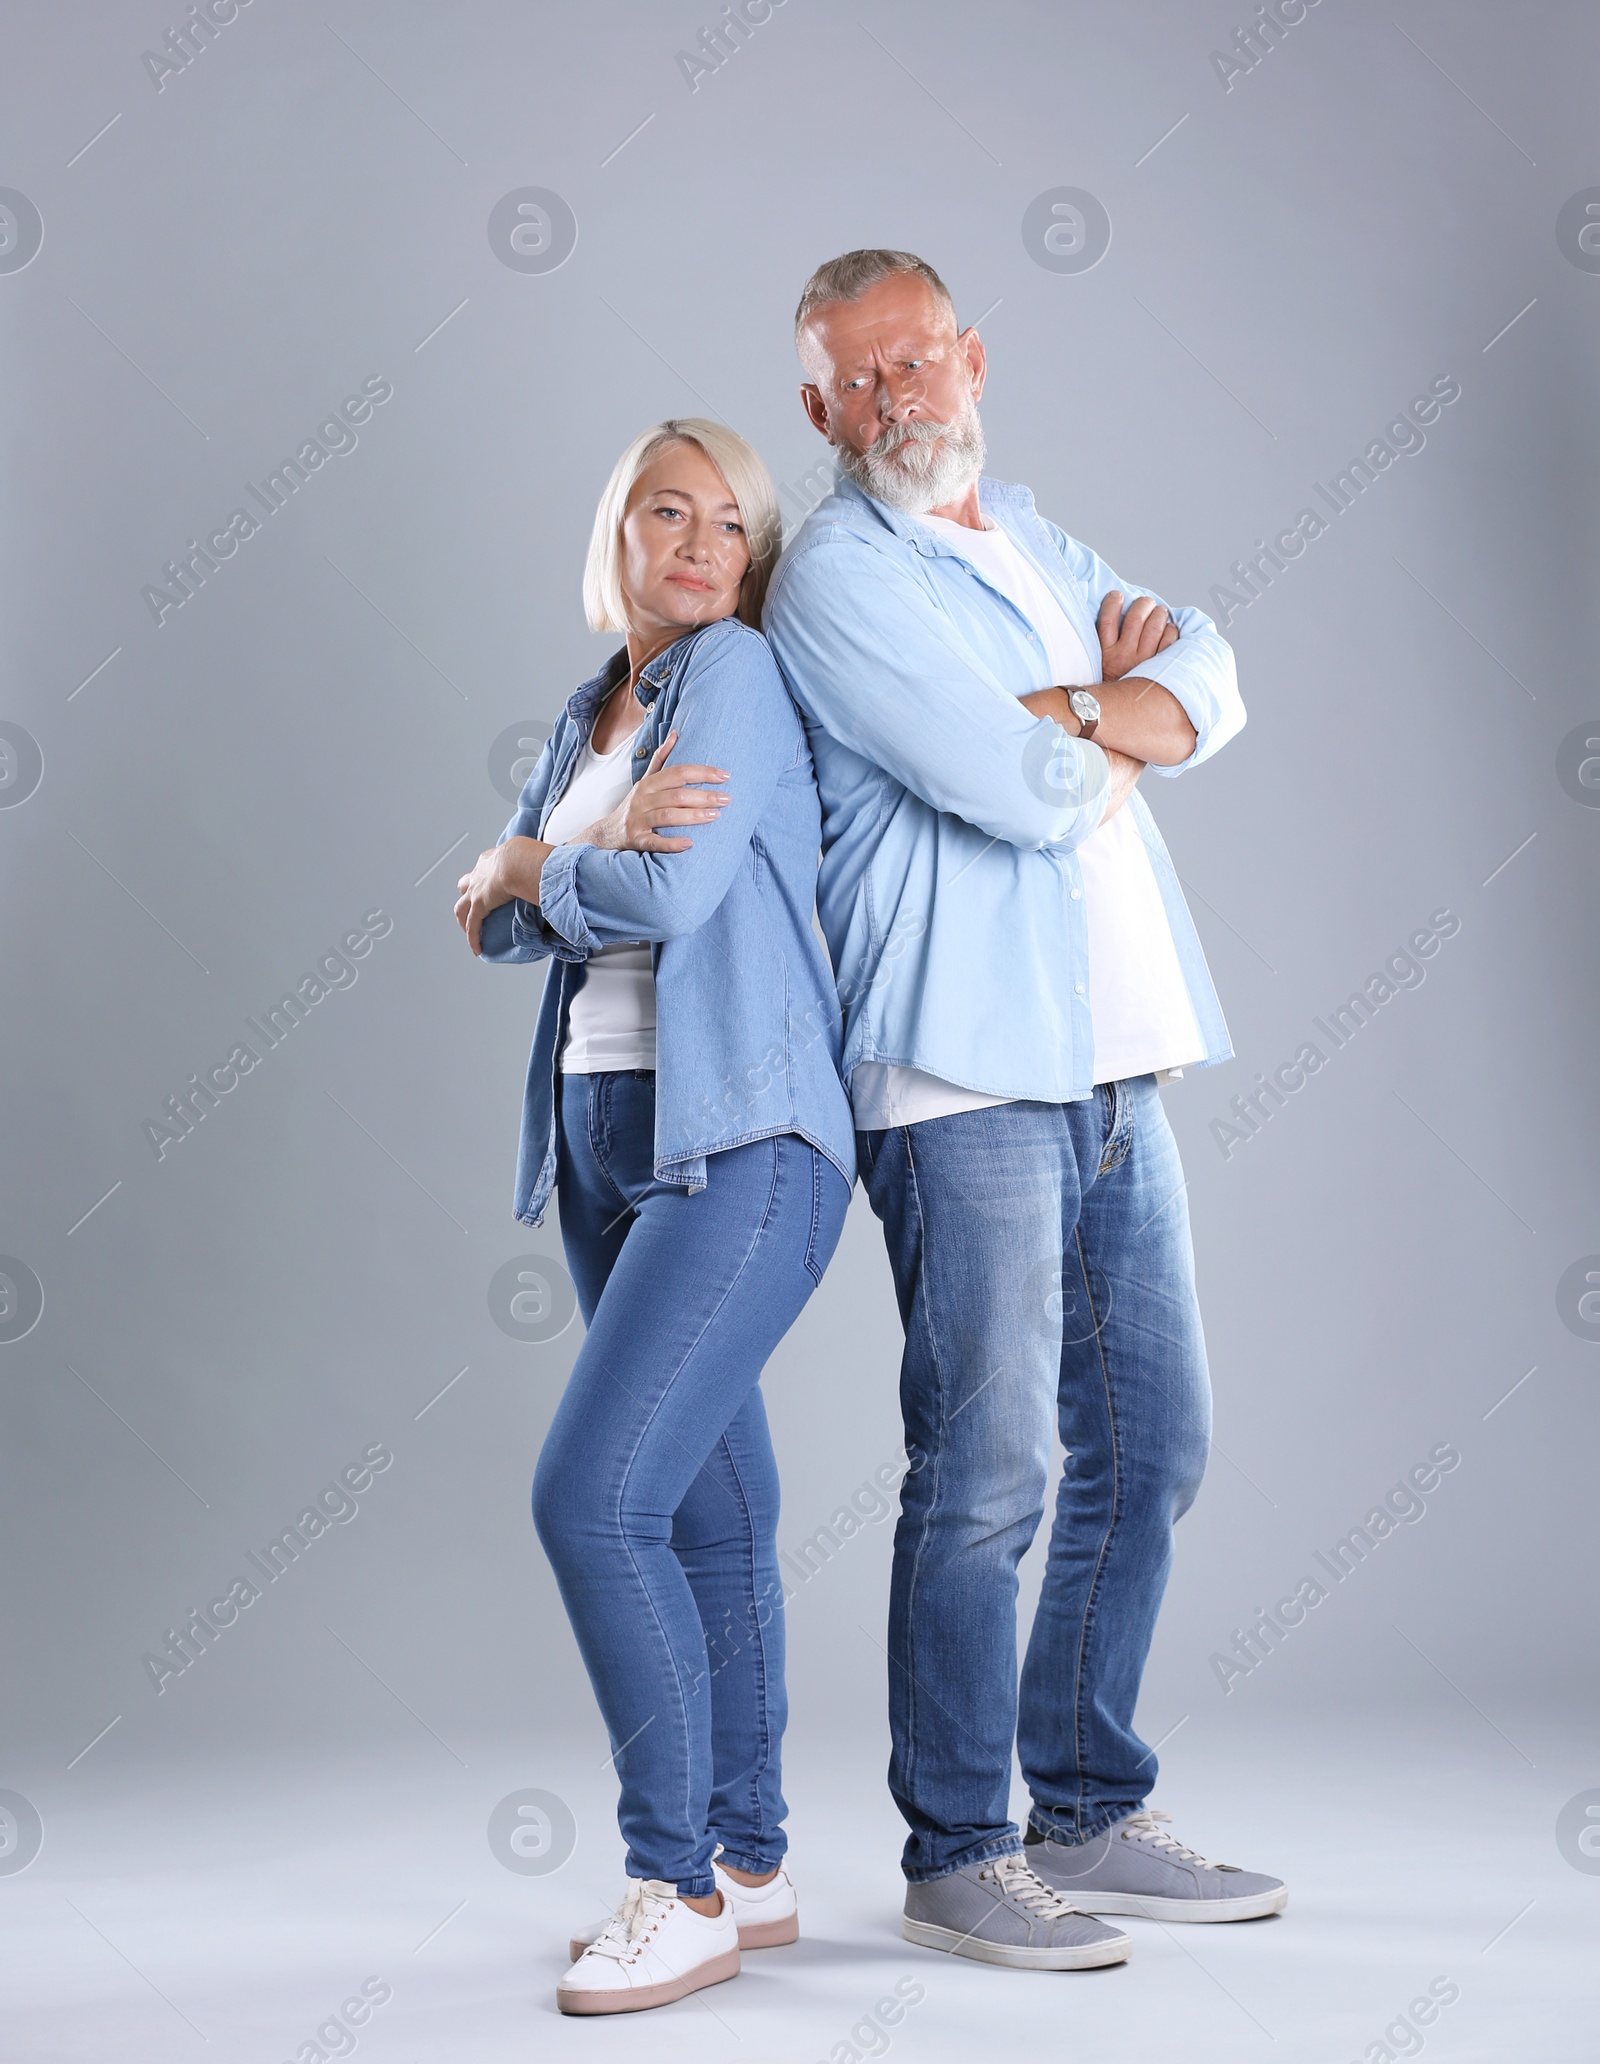
<svg viewBox="0 0 1600 2064">
<path fill-rule="evenodd" d="M 516 1216 L 559 1197 L 588 1333 L 533 1513 L 611 1736 L 630 1878 L 574 1944 L 570 2014 L 661 2006 L 797 1934 L 760 1375 L 838 1240 L 855 1135 L 811 929 L 811 755 L 756 630 L 778 537 L 733 431 L 687 417 L 628 446 L 584 570 L 590 625 L 626 648 L 568 702 L 456 904 L 485 960 L 553 960 Z"/>
</svg>

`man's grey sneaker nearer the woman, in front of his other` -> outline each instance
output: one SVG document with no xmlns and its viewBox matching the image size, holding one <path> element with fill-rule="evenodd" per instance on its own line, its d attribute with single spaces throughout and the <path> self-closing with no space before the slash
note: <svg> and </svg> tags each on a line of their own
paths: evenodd
<svg viewBox="0 0 1600 2064">
<path fill-rule="evenodd" d="M 1121 1963 L 1133 1938 L 1080 1913 L 1020 1856 L 993 1856 L 906 1886 L 906 1942 L 1018 1971 L 1086 1971 Z"/>
</svg>

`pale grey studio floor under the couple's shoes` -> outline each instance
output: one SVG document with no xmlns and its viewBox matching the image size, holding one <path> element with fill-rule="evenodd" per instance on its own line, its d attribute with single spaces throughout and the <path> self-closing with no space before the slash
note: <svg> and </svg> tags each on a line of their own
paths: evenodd
<svg viewBox="0 0 1600 2064">
<path fill-rule="evenodd" d="M 314 1769 L 250 1752 L 159 1777 L 111 1754 L 83 1783 L 74 1773 L 70 1806 L 37 1802 L 43 1847 L 0 1876 L 0 2054 L 1600 2056 L 1600 1876 L 1567 1860 L 1555 1827 L 1600 1781 L 1592 1728 L 1528 1717 L 1511 1740 L 1462 1707 L 1338 1723 L 1255 1713 L 1185 1736 L 1154 1804 L 1195 1847 L 1282 1874 L 1282 1917 L 1129 1922 L 1131 1961 L 1092 1973 L 995 1971 L 913 1948 L 898 1936 L 900 1833 L 875 1734 L 795 1742 L 803 1938 L 747 1955 L 731 1984 L 605 2023 L 566 2021 L 553 2004 L 570 1928 L 621 1884 L 613 1787 L 590 1742 L 539 1754 L 483 1744 L 456 1765 L 419 1736 Z M 566 1800 L 578 1831 L 543 1874 L 502 1866 L 487 1839 L 495 1804 L 529 1785 Z M 374 2004 L 347 2014 L 363 1988 Z M 1433 2019 L 1412 2008 L 1429 1998 L 1441 2002 Z"/>
</svg>

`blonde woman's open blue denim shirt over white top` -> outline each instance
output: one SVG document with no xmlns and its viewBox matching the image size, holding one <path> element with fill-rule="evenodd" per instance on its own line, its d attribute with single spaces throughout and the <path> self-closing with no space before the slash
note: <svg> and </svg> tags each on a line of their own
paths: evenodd
<svg viewBox="0 0 1600 2064">
<path fill-rule="evenodd" d="M 572 696 L 506 826 L 539 838 L 595 712 L 628 677 L 617 652 Z M 799 1133 L 855 1181 L 855 1131 L 838 1079 L 840 1005 L 811 923 L 822 813 L 805 727 L 766 640 L 737 617 L 687 632 L 640 671 L 644 720 L 634 780 L 669 731 L 669 766 L 727 768 L 729 803 L 694 826 L 685 852 L 555 846 L 541 904 L 502 904 L 483 958 L 553 962 L 522 1098 L 512 1210 L 537 1226 L 555 1187 L 555 1061 L 584 962 L 603 945 L 648 941 L 657 978 L 661 1183 L 704 1189 L 706 1160 L 772 1133 Z"/>
</svg>

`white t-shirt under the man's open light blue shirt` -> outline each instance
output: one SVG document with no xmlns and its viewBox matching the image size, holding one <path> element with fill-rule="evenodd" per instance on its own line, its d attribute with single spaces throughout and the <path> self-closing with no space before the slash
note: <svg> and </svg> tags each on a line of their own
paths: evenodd
<svg viewBox="0 0 1600 2064">
<path fill-rule="evenodd" d="M 946 516 L 919 516 L 952 551 L 1016 603 L 1045 646 L 1032 687 L 1088 687 L 1096 679 L 1084 642 L 1032 559 L 1007 530 L 972 530 Z M 1204 1059 L 1173 929 L 1133 813 L 1123 807 L 1078 846 L 1088 918 L 1088 1001 L 1094 1018 L 1094 1079 L 1171 1073 Z M 851 1077 L 861 1131 L 917 1125 L 954 1110 L 1012 1098 L 983 1096 L 917 1067 L 863 1061 Z"/>
</svg>

